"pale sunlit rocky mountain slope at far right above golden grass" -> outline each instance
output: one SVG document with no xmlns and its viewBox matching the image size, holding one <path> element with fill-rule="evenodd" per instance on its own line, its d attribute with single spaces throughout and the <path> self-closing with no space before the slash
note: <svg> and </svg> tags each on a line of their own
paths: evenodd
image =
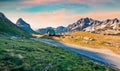
<svg viewBox="0 0 120 71">
<path fill-rule="evenodd" d="M 107 19 L 101 24 L 89 26 L 84 30 L 102 34 L 120 34 L 120 20 L 117 18 Z"/>
</svg>

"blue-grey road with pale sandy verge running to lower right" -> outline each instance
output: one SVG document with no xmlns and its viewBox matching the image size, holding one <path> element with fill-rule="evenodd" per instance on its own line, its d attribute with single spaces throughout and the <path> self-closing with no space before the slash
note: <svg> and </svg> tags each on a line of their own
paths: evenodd
<svg viewBox="0 0 120 71">
<path fill-rule="evenodd" d="M 73 44 L 58 42 L 51 39 L 42 39 L 42 38 L 31 38 L 31 39 L 35 41 L 51 44 L 54 46 L 62 47 L 69 51 L 73 51 L 77 54 L 84 55 L 100 63 L 104 63 L 108 66 L 114 67 L 120 71 L 120 55 L 115 54 L 108 49 L 95 49 L 95 48 L 81 47 Z"/>
</svg>

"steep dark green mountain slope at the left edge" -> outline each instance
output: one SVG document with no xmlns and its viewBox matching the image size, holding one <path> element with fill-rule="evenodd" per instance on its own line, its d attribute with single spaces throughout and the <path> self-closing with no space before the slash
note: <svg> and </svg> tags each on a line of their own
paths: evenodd
<svg viewBox="0 0 120 71">
<path fill-rule="evenodd" d="M 0 12 L 0 33 L 7 33 L 10 35 L 25 35 L 25 31 L 13 24 L 7 17 Z"/>
</svg>

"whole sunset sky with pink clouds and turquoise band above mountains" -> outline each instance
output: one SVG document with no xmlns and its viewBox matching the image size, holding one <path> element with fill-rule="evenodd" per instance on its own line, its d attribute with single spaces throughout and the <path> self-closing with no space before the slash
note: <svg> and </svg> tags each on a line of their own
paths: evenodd
<svg viewBox="0 0 120 71">
<path fill-rule="evenodd" d="M 120 18 L 120 0 L 0 0 L 0 12 L 13 23 L 22 18 L 34 30 L 67 26 L 80 18 Z"/>
</svg>

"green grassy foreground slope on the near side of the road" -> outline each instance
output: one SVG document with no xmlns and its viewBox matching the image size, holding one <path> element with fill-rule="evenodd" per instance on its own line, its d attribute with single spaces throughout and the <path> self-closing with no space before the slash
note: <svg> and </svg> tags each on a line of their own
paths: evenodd
<svg viewBox="0 0 120 71">
<path fill-rule="evenodd" d="M 0 35 L 0 71 L 115 70 L 60 47 Z"/>
</svg>

